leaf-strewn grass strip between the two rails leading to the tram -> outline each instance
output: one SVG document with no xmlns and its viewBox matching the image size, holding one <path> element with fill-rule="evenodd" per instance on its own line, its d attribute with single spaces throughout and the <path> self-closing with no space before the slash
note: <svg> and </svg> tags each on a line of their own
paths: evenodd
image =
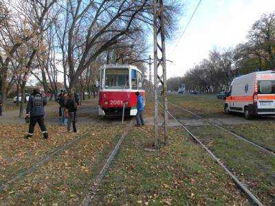
<svg viewBox="0 0 275 206">
<path fill-rule="evenodd" d="M 84 139 L 0 192 L 0 205 L 79 205 L 122 133 L 119 126 L 89 126 Z"/>
</svg>

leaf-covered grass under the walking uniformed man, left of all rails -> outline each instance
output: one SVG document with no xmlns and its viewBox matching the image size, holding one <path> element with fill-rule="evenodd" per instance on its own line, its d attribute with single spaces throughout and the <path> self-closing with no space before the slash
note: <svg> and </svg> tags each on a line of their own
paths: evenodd
<svg viewBox="0 0 275 206">
<path fill-rule="evenodd" d="M 47 153 L 76 137 L 73 133 L 67 133 L 67 129 L 62 126 L 47 125 L 47 130 L 50 139 L 42 139 L 43 136 L 38 126 L 36 126 L 32 138 L 23 139 L 23 135 L 28 133 L 27 124 L 0 125 L 0 183 L 5 183 L 12 176 L 29 168 L 30 165 L 47 155 Z M 82 126 L 78 130 L 78 135 L 85 133 L 85 128 Z"/>
</svg>

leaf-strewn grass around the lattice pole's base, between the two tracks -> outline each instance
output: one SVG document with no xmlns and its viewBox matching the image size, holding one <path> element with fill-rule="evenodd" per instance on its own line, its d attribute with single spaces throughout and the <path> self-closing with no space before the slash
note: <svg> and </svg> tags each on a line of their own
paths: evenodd
<svg viewBox="0 0 275 206">
<path fill-rule="evenodd" d="M 170 145 L 155 152 L 153 128 L 134 129 L 102 181 L 93 205 L 248 204 L 223 170 L 182 131 L 170 129 Z"/>
</svg>

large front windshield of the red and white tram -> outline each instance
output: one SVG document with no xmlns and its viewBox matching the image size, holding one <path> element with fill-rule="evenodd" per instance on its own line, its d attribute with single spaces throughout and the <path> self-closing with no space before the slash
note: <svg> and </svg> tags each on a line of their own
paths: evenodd
<svg viewBox="0 0 275 206">
<path fill-rule="evenodd" d="M 105 89 L 129 89 L 129 69 L 106 69 Z"/>
</svg>

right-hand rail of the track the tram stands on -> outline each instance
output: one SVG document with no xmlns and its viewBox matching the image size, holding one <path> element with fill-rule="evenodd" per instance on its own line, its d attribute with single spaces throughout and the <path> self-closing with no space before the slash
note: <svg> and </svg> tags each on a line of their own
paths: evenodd
<svg viewBox="0 0 275 206">
<path fill-rule="evenodd" d="M 104 178 L 107 170 L 109 169 L 111 162 L 113 161 L 115 155 L 118 153 L 118 150 L 120 149 L 120 146 L 122 144 L 122 141 L 125 139 L 125 137 L 129 134 L 129 130 L 131 129 L 131 124 L 132 124 L 133 120 L 131 120 L 131 122 L 128 125 L 128 128 L 126 128 L 126 131 L 122 134 L 122 136 L 120 137 L 120 139 L 118 140 L 118 143 L 115 145 L 115 148 L 113 148 L 113 151 L 111 152 L 111 154 L 109 155 L 106 163 L 104 164 L 104 166 L 102 167 L 102 169 L 100 170 L 98 176 L 96 176 L 96 180 L 94 181 L 94 184 L 91 187 L 90 192 L 87 194 L 87 196 L 84 198 L 83 202 L 81 203 L 81 205 L 83 206 L 88 206 L 91 205 L 91 200 L 94 198 L 94 196 L 96 195 L 96 191 L 98 190 L 98 186 L 100 184 L 100 182 L 102 181 L 102 179 Z"/>
</svg>

